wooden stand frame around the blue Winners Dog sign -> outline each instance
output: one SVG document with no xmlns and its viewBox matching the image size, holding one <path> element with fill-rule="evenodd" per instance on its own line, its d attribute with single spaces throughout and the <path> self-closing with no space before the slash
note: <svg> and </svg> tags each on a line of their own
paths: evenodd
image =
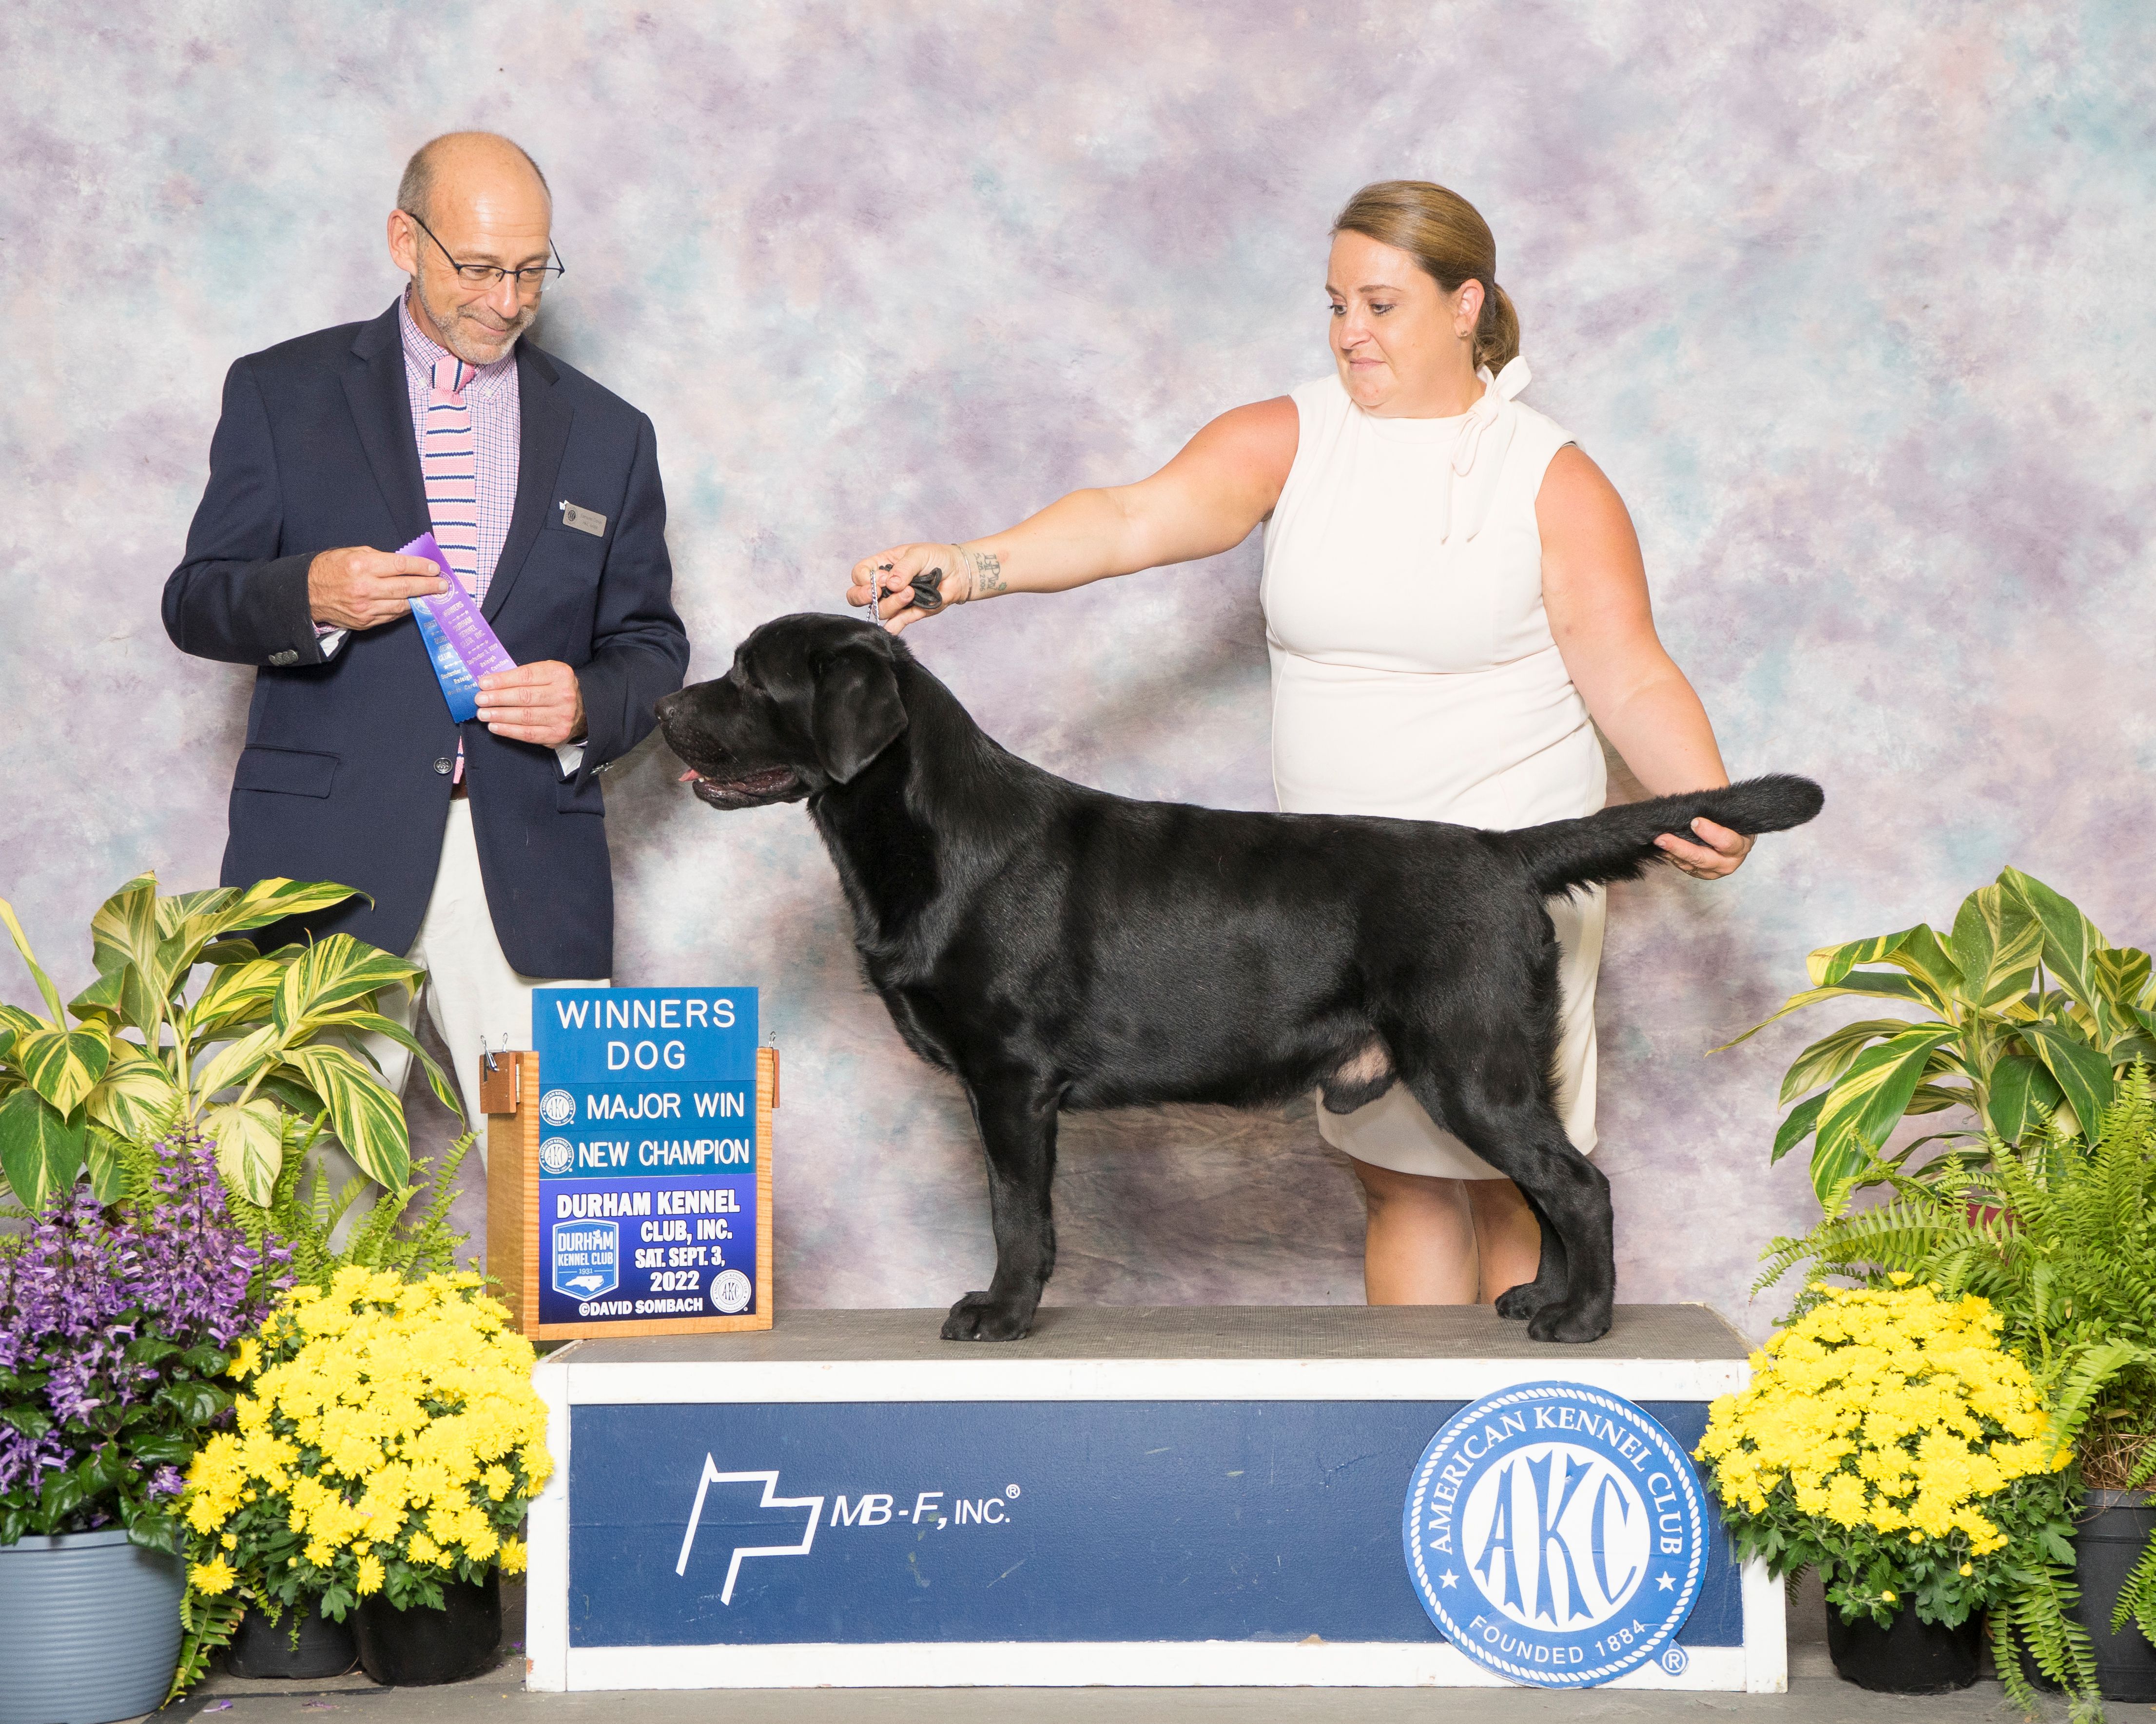
<svg viewBox="0 0 2156 1724">
<path fill-rule="evenodd" d="M 487 1108 L 487 1274 L 526 1340 L 586 1336 L 731 1334 L 772 1325 L 772 1108 L 778 1106 L 778 1049 L 757 1049 L 757 1308 L 742 1317 L 653 1317 L 627 1323 L 539 1321 L 539 1056 L 496 1054 L 507 1065 L 481 1073 Z M 500 1080 L 509 1082 L 502 1084 Z M 507 1093 L 505 1093 L 507 1090 Z M 500 1106 L 507 1103 L 507 1106 Z M 496 1108 L 500 1106 L 500 1112 Z"/>
</svg>

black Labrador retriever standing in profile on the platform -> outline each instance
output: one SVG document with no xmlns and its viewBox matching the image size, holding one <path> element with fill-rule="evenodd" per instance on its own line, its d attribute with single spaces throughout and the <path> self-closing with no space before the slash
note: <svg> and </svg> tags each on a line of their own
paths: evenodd
<svg viewBox="0 0 2156 1724">
<path fill-rule="evenodd" d="M 1753 778 L 1522 832 L 1130 802 L 996 746 L 897 638 L 780 616 L 658 703 L 714 808 L 808 800 L 899 1034 L 955 1073 L 987 1151 L 996 1274 L 949 1340 L 1028 1332 L 1054 1269 L 1056 1114 L 1147 1101 L 1350 1112 L 1406 1084 L 1526 1196 L 1535 1340 L 1611 1325 L 1608 1181 L 1550 1099 L 1544 901 L 1630 879 L 1695 815 L 1755 834 L 1820 812 Z"/>
</svg>

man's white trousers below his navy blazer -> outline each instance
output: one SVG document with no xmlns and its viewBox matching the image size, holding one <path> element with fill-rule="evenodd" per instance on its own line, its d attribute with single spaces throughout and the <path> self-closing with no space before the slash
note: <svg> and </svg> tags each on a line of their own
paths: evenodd
<svg viewBox="0 0 2156 1724">
<path fill-rule="evenodd" d="M 448 828 L 442 832 L 442 864 L 433 875 L 433 896 L 418 924 L 418 940 L 405 953 L 412 963 L 427 965 L 420 993 L 427 1017 L 448 1049 L 457 1095 L 464 1097 L 464 1118 L 479 1134 L 479 1162 L 487 1159 L 485 1116 L 479 1112 L 479 1060 L 492 1047 L 533 1045 L 535 987 L 606 987 L 606 978 L 565 981 L 520 976 L 502 957 L 494 937 L 494 912 L 487 909 L 487 886 L 479 877 L 479 843 L 472 838 L 472 804 L 451 797 Z M 418 1024 L 418 1000 L 395 989 L 382 1002 L 382 1015 L 412 1030 Z M 388 1037 L 367 1037 L 367 1052 L 382 1065 L 382 1082 L 390 1095 L 403 1095 L 412 1056 Z"/>
</svg>

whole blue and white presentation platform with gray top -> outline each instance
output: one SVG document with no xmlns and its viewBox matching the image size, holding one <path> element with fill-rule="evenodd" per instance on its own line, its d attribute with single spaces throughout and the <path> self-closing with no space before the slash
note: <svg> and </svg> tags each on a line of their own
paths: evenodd
<svg viewBox="0 0 2156 1724">
<path fill-rule="evenodd" d="M 1781 1692 L 1783 1593 L 1688 1450 L 1749 1345 L 1619 1306 L 940 1310 L 539 1362 L 528 1685 Z"/>
</svg>

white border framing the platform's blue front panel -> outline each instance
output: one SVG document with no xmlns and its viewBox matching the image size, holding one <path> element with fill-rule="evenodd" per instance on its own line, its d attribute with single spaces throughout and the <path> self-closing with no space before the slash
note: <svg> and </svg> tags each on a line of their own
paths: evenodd
<svg viewBox="0 0 2156 1724">
<path fill-rule="evenodd" d="M 1531 1381 L 1542 1360 L 893 1360 L 580 1364 L 578 1345 L 533 1373 L 548 1407 L 554 1476 L 533 1504 L 526 1681 L 535 1692 L 699 1687 L 1503 1687 L 1451 1646 L 1397 1642 L 875 1642 L 789 1646 L 569 1646 L 571 1405 L 860 1401 L 1455 1401 Z M 1438 1368 L 1434 1368 L 1434 1364 Z M 1712 1401 L 1749 1360 L 1580 1360 L 1570 1381 L 1630 1401 Z M 1015 1381 L 1013 1381 L 1015 1377 Z M 983 1392 L 994 1384 L 996 1392 Z M 1690 1651 L 1608 1687 L 1783 1694 L 1783 1588 L 1742 1571 L 1742 1646 Z"/>
</svg>

